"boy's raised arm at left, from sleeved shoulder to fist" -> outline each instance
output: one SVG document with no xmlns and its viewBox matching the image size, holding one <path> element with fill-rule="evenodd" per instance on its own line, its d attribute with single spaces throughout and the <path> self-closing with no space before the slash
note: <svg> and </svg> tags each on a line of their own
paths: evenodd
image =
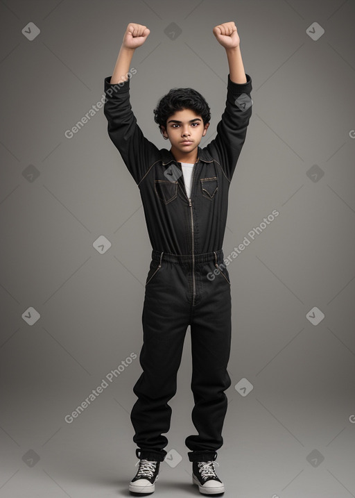
<svg viewBox="0 0 355 498">
<path fill-rule="evenodd" d="M 107 132 L 137 184 L 153 163 L 157 147 L 144 137 L 132 112 L 128 74 L 134 74 L 130 71 L 132 56 L 149 33 L 146 26 L 128 24 L 112 77 L 105 78 L 107 100 L 103 112 L 108 122 Z"/>
</svg>

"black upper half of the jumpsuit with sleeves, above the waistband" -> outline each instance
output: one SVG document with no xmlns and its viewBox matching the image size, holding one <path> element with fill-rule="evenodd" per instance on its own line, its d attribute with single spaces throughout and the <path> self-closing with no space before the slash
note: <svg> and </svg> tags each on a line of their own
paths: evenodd
<svg viewBox="0 0 355 498">
<path fill-rule="evenodd" d="M 110 83 L 111 76 L 105 78 L 107 131 L 139 187 L 153 249 L 172 254 L 222 249 L 228 191 L 252 113 L 248 105 L 252 82 L 246 76 L 247 83 L 239 84 L 228 75 L 227 102 L 216 138 L 207 147 L 198 147 L 191 199 L 184 187 L 181 163 L 170 151 L 159 150 L 147 140 L 139 128 L 130 106 L 130 80 L 118 88 Z"/>
</svg>

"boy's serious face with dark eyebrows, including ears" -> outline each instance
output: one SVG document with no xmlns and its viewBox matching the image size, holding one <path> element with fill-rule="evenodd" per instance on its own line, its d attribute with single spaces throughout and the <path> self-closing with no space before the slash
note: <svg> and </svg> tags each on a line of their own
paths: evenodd
<svg viewBox="0 0 355 498">
<path fill-rule="evenodd" d="M 168 117 L 163 135 L 171 142 L 174 156 L 188 156 L 197 149 L 202 137 L 206 135 L 209 123 L 203 124 L 202 117 L 191 109 L 178 110 Z"/>
</svg>

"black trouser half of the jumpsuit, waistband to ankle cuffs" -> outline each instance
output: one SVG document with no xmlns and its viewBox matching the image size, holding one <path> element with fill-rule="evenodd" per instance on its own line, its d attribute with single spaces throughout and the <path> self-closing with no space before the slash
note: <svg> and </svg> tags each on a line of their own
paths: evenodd
<svg viewBox="0 0 355 498">
<path fill-rule="evenodd" d="M 139 361 L 143 373 L 133 388 L 138 399 L 130 415 L 139 458 L 162 461 L 166 456 L 163 448 L 168 439 L 162 433 L 170 429 L 168 401 L 176 393 L 190 324 L 192 421 L 198 435 L 189 435 L 185 445 L 191 450 L 190 461 L 216 459 L 216 450 L 223 445 L 224 391 L 231 385 L 227 372 L 231 304 L 222 249 L 197 254 L 194 261 L 189 255 L 152 251 L 142 314 L 144 341 Z"/>
</svg>

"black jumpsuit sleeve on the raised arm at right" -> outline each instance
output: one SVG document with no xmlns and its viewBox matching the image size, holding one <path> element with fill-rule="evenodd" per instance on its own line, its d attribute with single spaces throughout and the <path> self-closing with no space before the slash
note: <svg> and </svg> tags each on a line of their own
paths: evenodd
<svg viewBox="0 0 355 498">
<path fill-rule="evenodd" d="M 245 136 L 252 115 L 252 80 L 248 74 L 246 83 L 234 83 L 228 74 L 227 101 L 225 110 L 217 125 L 217 135 L 206 149 L 218 160 L 227 178 L 231 181 L 236 162 L 245 142 Z"/>
</svg>

